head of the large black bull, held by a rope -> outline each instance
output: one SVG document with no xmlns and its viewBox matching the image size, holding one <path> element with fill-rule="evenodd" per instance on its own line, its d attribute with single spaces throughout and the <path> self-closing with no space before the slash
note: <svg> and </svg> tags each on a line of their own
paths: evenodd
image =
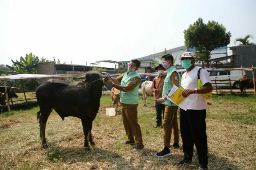
<svg viewBox="0 0 256 170">
<path fill-rule="evenodd" d="M 85 80 L 76 83 L 76 87 L 82 87 L 85 84 L 90 84 L 94 87 L 102 87 L 104 85 L 104 75 L 100 71 L 88 71 L 84 76 L 78 78 Z"/>
</svg>

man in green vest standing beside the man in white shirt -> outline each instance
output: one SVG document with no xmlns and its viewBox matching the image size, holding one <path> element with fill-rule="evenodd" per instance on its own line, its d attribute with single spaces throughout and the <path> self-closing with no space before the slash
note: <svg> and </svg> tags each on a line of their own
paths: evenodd
<svg viewBox="0 0 256 170">
<path fill-rule="evenodd" d="M 167 76 L 164 79 L 162 98 L 157 99 L 156 102 L 165 105 L 163 120 L 164 149 L 156 154 L 158 157 L 170 156 L 170 147 L 179 148 L 179 129 L 177 120 L 178 106 L 170 102 L 166 97 L 168 90 L 171 90 L 174 85 L 180 87 L 181 78 L 178 70 L 173 65 L 172 55 L 164 55 L 162 57 L 162 65 L 167 70 Z M 170 145 L 171 136 L 173 136 L 173 145 Z"/>
</svg>

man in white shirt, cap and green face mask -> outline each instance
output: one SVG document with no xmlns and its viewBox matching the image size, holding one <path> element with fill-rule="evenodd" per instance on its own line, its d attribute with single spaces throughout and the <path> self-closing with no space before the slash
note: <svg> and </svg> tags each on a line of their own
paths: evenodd
<svg viewBox="0 0 256 170">
<path fill-rule="evenodd" d="M 186 69 L 182 75 L 181 86 L 185 89 L 182 92 L 184 97 L 190 95 L 188 109 L 185 111 L 180 108 L 180 133 L 182 138 L 183 158 L 177 164 L 184 164 L 192 161 L 194 145 L 198 153 L 200 170 L 207 170 L 208 166 L 208 147 L 206 136 L 206 98 L 202 94 L 212 92 L 212 84 L 208 72 L 200 69 L 200 80 L 203 87 L 198 88 L 198 70 L 195 66 L 194 54 L 190 52 L 181 55 L 181 64 Z"/>
</svg>

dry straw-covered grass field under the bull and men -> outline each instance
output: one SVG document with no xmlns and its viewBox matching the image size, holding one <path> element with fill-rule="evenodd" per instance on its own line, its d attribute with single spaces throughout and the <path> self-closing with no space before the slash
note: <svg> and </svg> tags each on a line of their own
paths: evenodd
<svg viewBox="0 0 256 170">
<path fill-rule="evenodd" d="M 106 108 L 112 106 L 110 96 L 102 96 L 92 127 L 96 145 L 91 146 L 90 152 L 83 150 L 84 134 L 80 119 L 66 117 L 62 121 L 53 111 L 46 125 L 50 148 L 44 150 L 36 120 L 39 107 L 3 113 L 0 115 L 0 169 L 198 169 L 196 149 L 193 162 L 184 166 L 175 164 L 182 158 L 182 149 L 171 149 L 172 155 L 166 158 L 155 156 L 163 149 L 163 130 L 152 128 L 156 121 L 153 101 L 147 100 L 147 105 L 144 107 L 140 100 L 138 121 L 144 150 L 136 153 L 131 152 L 132 146 L 120 145 L 126 139 L 120 113 L 114 117 L 105 115 Z M 208 100 L 208 107 L 209 169 L 255 169 L 256 98 L 250 95 L 214 95 Z"/>
</svg>

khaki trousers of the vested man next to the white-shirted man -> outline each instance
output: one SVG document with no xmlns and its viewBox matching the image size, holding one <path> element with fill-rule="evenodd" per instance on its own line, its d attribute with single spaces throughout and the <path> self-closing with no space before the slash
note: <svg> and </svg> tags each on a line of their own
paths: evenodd
<svg viewBox="0 0 256 170">
<path fill-rule="evenodd" d="M 177 109 L 178 106 L 165 106 L 163 120 L 165 147 L 170 147 L 171 136 L 173 136 L 173 143 L 179 143 Z"/>
</svg>

